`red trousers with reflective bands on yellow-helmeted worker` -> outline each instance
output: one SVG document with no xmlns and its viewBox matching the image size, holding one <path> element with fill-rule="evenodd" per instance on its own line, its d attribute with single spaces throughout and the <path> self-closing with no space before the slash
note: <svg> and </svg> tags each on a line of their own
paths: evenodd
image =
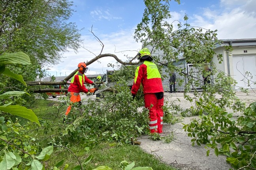
<svg viewBox="0 0 256 170">
<path fill-rule="evenodd" d="M 162 93 L 162 92 L 160 92 Z M 147 93 L 144 94 L 145 107 L 149 109 L 149 129 L 151 133 L 157 132 L 162 133 L 163 128 L 163 105 L 164 105 L 164 94 L 159 99 L 159 93 Z"/>
</svg>

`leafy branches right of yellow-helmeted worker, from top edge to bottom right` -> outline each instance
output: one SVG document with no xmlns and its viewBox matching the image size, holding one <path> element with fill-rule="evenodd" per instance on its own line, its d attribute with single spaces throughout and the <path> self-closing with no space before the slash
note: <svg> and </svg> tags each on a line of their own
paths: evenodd
<svg viewBox="0 0 256 170">
<path fill-rule="evenodd" d="M 224 153 L 234 168 L 255 168 L 255 113 L 249 111 L 250 109 L 245 110 L 245 103 L 235 96 L 233 87 L 237 82 L 231 76 L 217 70 L 216 65 L 212 63 L 215 55 L 213 49 L 219 43 L 216 37 L 217 30 L 190 26 L 186 14 L 184 21 L 170 22 L 169 0 L 144 2 L 146 9 L 141 22 L 137 25 L 134 38 L 141 41 L 143 47 L 151 49 L 154 60 L 164 65 L 166 72 L 175 69 L 177 74 L 187 80 L 184 98 L 196 103 L 196 106 L 186 109 L 182 115 L 200 115 L 200 120 L 193 120 L 189 125 L 184 125 L 184 129 L 189 132 L 188 135 L 193 137 L 192 144 L 207 144 L 208 147 L 215 148 L 216 155 Z M 174 24 L 177 30 L 174 29 Z M 232 47 L 226 46 L 226 51 L 231 52 Z M 216 55 L 216 58 L 219 63 L 223 61 L 222 55 Z M 173 65 L 180 59 L 192 64 L 193 68 L 186 70 Z M 211 72 L 203 68 L 206 64 L 211 66 Z M 199 76 L 195 76 L 195 72 Z M 200 78 L 206 75 L 213 76 L 214 79 L 213 82 L 203 85 Z M 250 74 L 247 73 L 245 76 L 250 77 Z M 197 89 L 202 89 L 202 92 L 198 92 Z M 255 104 L 252 103 L 250 107 L 253 108 L 253 105 Z M 244 115 L 235 120 L 231 113 L 226 113 L 225 108 L 232 108 L 234 112 L 244 112 Z"/>
</svg>

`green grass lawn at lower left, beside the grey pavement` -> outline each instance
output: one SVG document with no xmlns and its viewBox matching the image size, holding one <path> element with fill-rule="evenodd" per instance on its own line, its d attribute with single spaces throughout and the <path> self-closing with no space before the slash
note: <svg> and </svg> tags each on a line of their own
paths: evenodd
<svg viewBox="0 0 256 170">
<path fill-rule="evenodd" d="M 39 118 L 43 118 L 49 122 L 58 124 L 58 126 L 54 126 L 53 129 L 49 130 L 47 134 L 43 133 L 43 129 L 33 131 L 32 135 L 35 135 L 38 139 L 40 139 L 40 144 L 42 147 L 49 145 L 48 142 L 51 139 L 51 135 L 58 134 L 58 128 L 64 128 L 61 116 L 65 113 L 66 108 L 60 107 L 58 110 L 55 107 L 57 103 L 58 102 L 53 102 L 50 100 L 37 100 L 37 102 L 35 102 L 31 108 Z M 96 144 L 94 148 L 89 149 L 83 145 L 83 140 L 81 140 L 80 142 L 70 142 L 64 146 L 69 148 L 79 158 L 81 164 L 84 163 L 89 155 L 94 156 L 91 162 L 85 165 L 85 170 L 88 168 L 96 168 L 98 166 L 109 166 L 113 170 L 120 170 L 119 164 L 124 160 L 128 161 L 129 163 L 135 161 L 135 166 L 149 166 L 154 170 L 175 170 L 175 168 L 161 163 L 158 159 L 156 159 L 156 157 L 154 157 L 154 155 L 145 153 L 139 146 L 135 145 L 120 145 L 118 143 L 103 142 Z M 74 166 L 79 165 L 77 158 L 71 151 L 65 148 L 55 147 L 51 158 L 46 162 L 46 164 L 49 168 L 51 168 L 56 163 L 64 159 L 64 165 L 69 164 L 68 169 L 71 170 Z"/>
</svg>

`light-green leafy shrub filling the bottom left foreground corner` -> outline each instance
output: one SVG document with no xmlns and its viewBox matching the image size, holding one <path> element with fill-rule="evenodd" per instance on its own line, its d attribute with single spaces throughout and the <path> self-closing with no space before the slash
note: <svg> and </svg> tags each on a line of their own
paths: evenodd
<svg viewBox="0 0 256 170">
<path fill-rule="evenodd" d="M 21 126 L 18 119 L 16 122 L 4 120 L 0 117 L 0 169 L 9 170 L 16 167 L 24 167 L 32 170 L 42 170 L 43 164 L 40 161 L 49 159 L 53 152 L 53 146 L 41 150 L 35 138 L 28 135 L 31 125 Z M 41 152 L 40 152 L 41 150 Z M 38 156 L 36 156 L 39 154 Z"/>
</svg>

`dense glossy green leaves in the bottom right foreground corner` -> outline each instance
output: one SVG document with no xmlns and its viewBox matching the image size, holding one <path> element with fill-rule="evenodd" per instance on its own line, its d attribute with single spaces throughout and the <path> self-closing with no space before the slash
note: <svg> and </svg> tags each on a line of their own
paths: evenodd
<svg viewBox="0 0 256 170">
<path fill-rule="evenodd" d="M 235 169 L 256 168 L 256 102 L 235 120 L 232 113 L 209 102 L 201 105 L 200 119 L 184 125 L 192 144 L 206 144 L 215 155 L 224 154 Z M 207 114 L 207 115 L 205 115 Z M 207 150 L 207 156 L 210 150 Z"/>
</svg>

